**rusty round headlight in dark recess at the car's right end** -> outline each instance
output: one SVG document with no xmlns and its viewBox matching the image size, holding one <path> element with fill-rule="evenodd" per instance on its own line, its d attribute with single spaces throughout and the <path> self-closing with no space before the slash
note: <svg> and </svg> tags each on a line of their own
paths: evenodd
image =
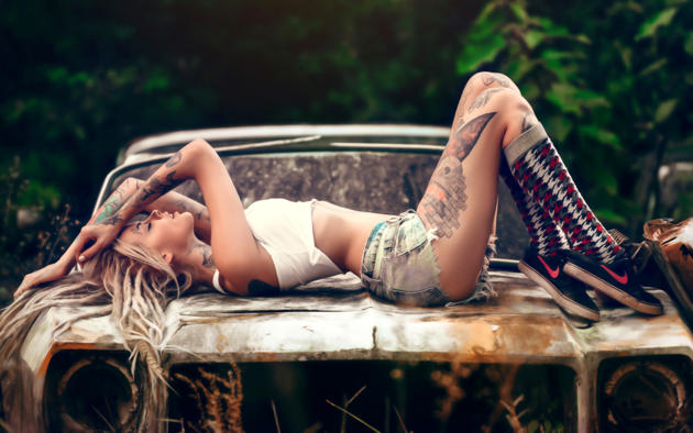
<svg viewBox="0 0 693 433">
<path fill-rule="evenodd" d="M 605 364 L 597 402 L 601 431 L 680 431 L 689 424 L 688 359 L 610 359 Z"/>
</svg>

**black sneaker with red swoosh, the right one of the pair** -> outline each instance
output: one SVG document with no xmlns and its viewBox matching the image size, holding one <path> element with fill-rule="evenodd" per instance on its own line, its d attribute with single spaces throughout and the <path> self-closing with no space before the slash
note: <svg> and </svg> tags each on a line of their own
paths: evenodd
<svg viewBox="0 0 693 433">
<path fill-rule="evenodd" d="M 584 254 L 566 253 L 565 274 L 592 286 L 595 290 L 645 314 L 659 315 L 664 308 L 659 299 L 648 293 L 632 267 L 630 258 L 624 257 L 609 264 L 600 263 Z"/>
</svg>

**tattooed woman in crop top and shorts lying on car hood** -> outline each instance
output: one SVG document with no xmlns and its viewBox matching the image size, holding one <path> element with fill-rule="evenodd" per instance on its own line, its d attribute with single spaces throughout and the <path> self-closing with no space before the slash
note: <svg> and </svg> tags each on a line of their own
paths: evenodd
<svg viewBox="0 0 693 433">
<path fill-rule="evenodd" d="M 393 216 L 282 200 L 245 211 L 217 153 L 196 140 L 146 181 L 123 184 L 66 254 L 28 275 L 15 296 L 63 277 L 76 262 L 98 259 L 116 242 L 117 249 L 153 251 L 175 274 L 241 296 L 351 270 L 393 302 L 463 301 L 473 296 L 484 263 L 499 171 L 531 237 L 520 269 L 565 311 L 598 320 L 586 282 L 638 311 L 661 313 L 578 192 L 529 103 L 507 77 L 490 73 L 465 86 L 416 212 Z M 198 182 L 207 209 L 168 192 L 186 179 Z M 131 223 L 146 210 L 146 220 Z"/>
</svg>

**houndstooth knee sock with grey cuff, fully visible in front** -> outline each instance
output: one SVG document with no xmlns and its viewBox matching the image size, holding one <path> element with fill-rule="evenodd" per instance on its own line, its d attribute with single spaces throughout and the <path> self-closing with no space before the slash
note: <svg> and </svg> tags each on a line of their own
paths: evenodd
<svg viewBox="0 0 693 433">
<path fill-rule="evenodd" d="M 513 177 L 563 230 L 573 249 L 612 263 L 620 247 L 592 213 L 546 131 L 537 124 L 505 148 Z"/>
</svg>

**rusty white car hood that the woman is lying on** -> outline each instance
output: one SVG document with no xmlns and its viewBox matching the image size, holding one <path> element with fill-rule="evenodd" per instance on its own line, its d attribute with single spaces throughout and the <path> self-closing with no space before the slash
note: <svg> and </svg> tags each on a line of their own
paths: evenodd
<svg viewBox="0 0 693 433">
<path fill-rule="evenodd" d="M 358 282 L 273 298 L 216 293 L 184 297 L 166 310 L 163 363 L 309 359 L 459 360 L 470 363 L 580 363 L 594 353 L 618 356 L 691 353 L 693 335 L 663 291 L 664 314 L 604 309 L 592 325 L 568 318 L 521 274 L 492 271 L 497 296 L 448 308 L 380 302 Z M 350 286 L 351 285 L 351 286 Z M 314 285 L 319 288 L 320 284 Z M 84 312 L 84 309 L 80 309 Z M 75 314 L 53 308 L 22 347 L 35 375 L 63 349 L 122 349 L 110 317 L 85 319 L 56 333 Z"/>
</svg>

